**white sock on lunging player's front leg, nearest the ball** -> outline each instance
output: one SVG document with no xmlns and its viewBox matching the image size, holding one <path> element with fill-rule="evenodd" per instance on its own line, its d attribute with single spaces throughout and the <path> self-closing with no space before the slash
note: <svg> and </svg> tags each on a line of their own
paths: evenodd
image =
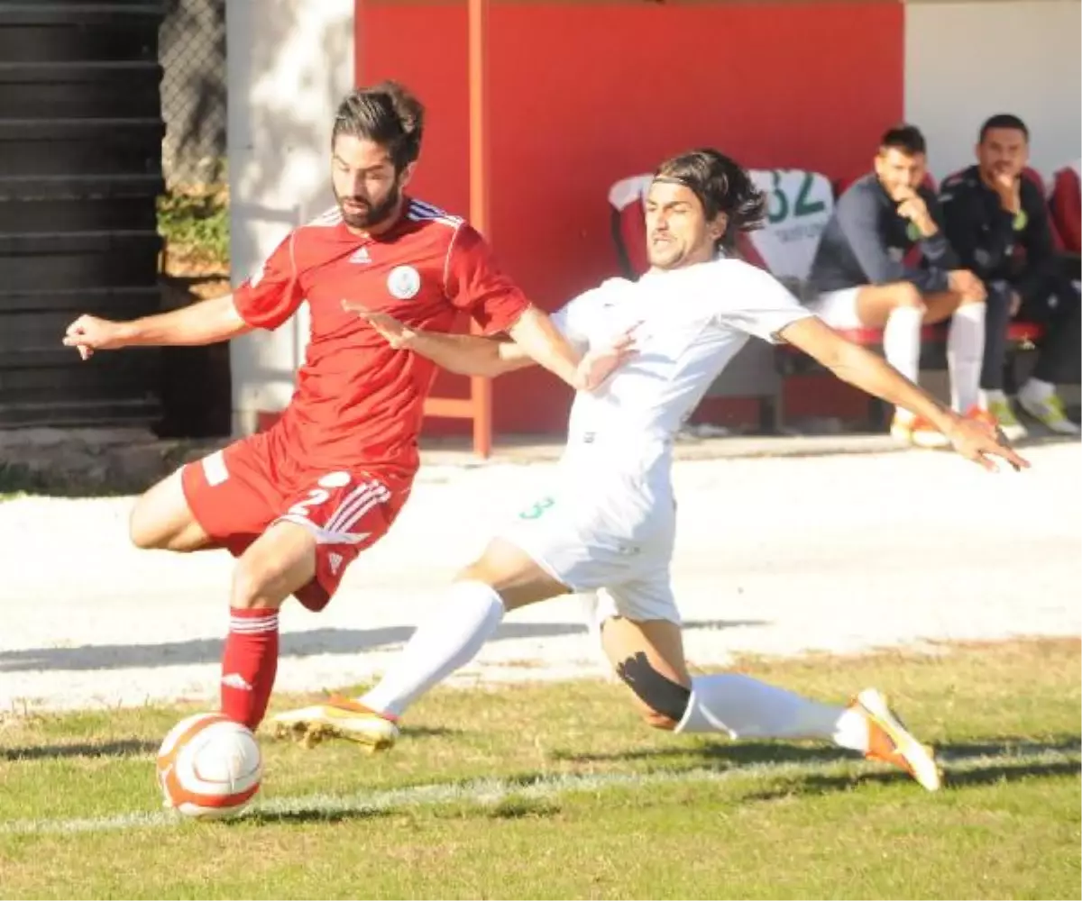
<svg viewBox="0 0 1082 901">
<path fill-rule="evenodd" d="M 500 595 L 483 582 L 451 586 L 439 612 L 418 626 L 379 684 L 358 698 L 378 713 L 401 716 L 436 684 L 474 659 L 503 620 Z"/>
</svg>

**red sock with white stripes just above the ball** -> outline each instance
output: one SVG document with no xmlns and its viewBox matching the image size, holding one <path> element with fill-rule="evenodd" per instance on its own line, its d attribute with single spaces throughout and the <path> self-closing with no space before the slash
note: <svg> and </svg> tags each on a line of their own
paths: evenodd
<svg viewBox="0 0 1082 901">
<path fill-rule="evenodd" d="M 222 713 L 254 729 L 263 720 L 278 672 L 278 611 L 229 608 L 222 654 Z"/>
</svg>

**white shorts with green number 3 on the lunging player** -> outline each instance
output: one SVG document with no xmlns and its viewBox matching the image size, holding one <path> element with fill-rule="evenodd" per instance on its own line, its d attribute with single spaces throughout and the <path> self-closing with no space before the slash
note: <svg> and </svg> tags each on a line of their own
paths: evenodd
<svg viewBox="0 0 1082 901">
<path fill-rule="evenodd" d="M 598 622 L 624 617 L 679 625 L 670 582 L 675 509 L 671 500 L 655 505 L 661 508 L 644 507 L 641 498 L 557 491 L 524 509 L 500 538 L 573 592 L 596 591 Z"/>
</svg>

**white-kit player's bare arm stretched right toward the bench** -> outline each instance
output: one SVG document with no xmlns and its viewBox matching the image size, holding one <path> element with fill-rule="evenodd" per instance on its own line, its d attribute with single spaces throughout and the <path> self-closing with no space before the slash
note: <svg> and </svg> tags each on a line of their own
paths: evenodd
<svg viewBox="0 0 1082 901">
<path fill-rule="evenodd" d="M 960 454 L 995 471 L 991 460 L 999 456 L 1021 469 L 1029 463 L 1018 456 L 998 429 L 966 420 L 863 347 L 846 341 L 821 319 L 810 316 L 790 323 L 779 336 L 814 357 L 843 382 L 847 382 L 926 419 L 946 435 Z"/>
</svg>

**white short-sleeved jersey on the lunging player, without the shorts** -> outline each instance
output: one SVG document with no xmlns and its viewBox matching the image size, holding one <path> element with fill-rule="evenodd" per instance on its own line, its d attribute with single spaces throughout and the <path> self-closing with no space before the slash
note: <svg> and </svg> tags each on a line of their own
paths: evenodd
<svg viewBox="0 0 1082 901">
<path fill-rule="evenodd" d="M 642 324 L 637 353 L 598 390 L 576 396 L 568 450 L 583 442 L 610 451 L 670 442 L 749 335 L 776 342 L 778 332 L 810 315 L 768 273 L 726 257 L 586 291 L 553 315 L 580 350 Z"/>
</svg>

